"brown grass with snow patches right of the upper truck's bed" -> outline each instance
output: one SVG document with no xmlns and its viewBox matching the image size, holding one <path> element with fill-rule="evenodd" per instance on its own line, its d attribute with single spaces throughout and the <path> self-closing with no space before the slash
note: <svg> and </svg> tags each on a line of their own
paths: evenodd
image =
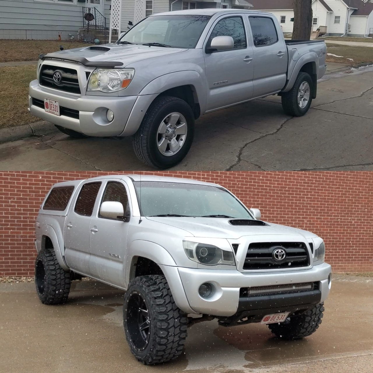
<svg viewBox="0 0 373 373">
<path fill-rule="evenodd" d="M 326 62 L 347 63 L 355 65 L 363 62 L 373 62 L 372 47 L 351 47 L 340 44 L 327 44 L 327 53 L 335 54 L 335 56 L 326 56 Z M 351 60 L 349 60 L 349 58 Z"/>
</svg>

